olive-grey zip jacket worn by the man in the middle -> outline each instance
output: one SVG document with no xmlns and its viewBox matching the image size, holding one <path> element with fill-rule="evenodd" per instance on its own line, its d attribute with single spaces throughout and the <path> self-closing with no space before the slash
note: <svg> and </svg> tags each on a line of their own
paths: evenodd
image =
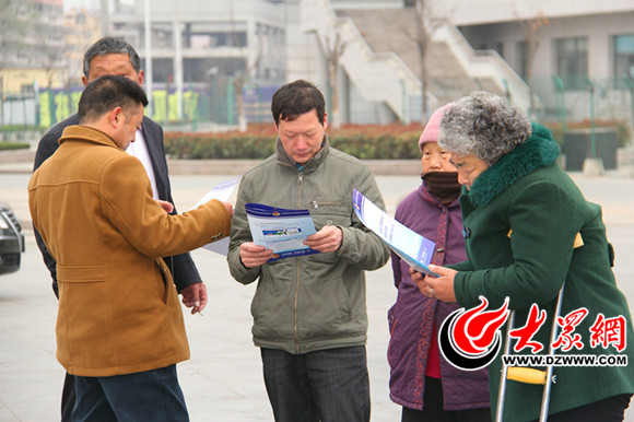
<svg viewBox="0 0 634 422">
<path fill-rule="evenodd" d="M 376 180 L 361 161 L 324 146 L 298 171 L 278 139 L 277 154 L 245 173 L 232 220 L 227 261 L 231 274 L 248 284 L 259 279 L 251 303 L 254 342 L 258 347 L 306 353 L 366 341 L 365 270 L 389 259 L 385 244 L 356 218 L 356 188 L 385 209 Z M 245 203 L 308 209 L 315 228 L 343 231 L 339 250 L 285 258 L 247 269 L 239 245 L 253 242 Z"/>
</svg>

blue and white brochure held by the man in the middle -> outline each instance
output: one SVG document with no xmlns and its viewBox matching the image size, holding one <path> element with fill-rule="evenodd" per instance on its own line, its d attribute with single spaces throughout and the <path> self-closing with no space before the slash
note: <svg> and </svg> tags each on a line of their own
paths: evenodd
<svg viewBox="0 0 634 422">
<path fill-rule="evenodd" d="M 306 237 L 316 233 L 308 210 L 289 210 L 262 203 L 247 203 L 245 209 L 254 243 L 273 250 L 270 261 L 319 254 L 304 245 Z"/>
</svg>

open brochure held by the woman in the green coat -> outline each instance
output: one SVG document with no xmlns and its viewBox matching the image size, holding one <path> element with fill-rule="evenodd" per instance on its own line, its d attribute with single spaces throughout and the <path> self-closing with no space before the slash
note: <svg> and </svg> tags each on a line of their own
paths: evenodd
<svg viewBox="0 0 634 422">
<path fill-rule="evenodd" d="M 437 276 L 428 269 L 435 244 L 416 232 L 406 227 L 359 190 L 353 191 L 354 212 L 363 224 L 372 230 L 391 250 L 410 267 L 424 274 Z"/>
</svg>

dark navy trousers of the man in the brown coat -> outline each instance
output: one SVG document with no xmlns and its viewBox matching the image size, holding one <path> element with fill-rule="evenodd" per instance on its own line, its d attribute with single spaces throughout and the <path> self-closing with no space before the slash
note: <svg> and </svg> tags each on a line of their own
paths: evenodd
<svg viewBox="0 0 634 422">
<path fill-rule="evenodd" d="M 176 365 L 137 374 L 74 378 L 74 422 L 189 421 Z"/>
</svg>

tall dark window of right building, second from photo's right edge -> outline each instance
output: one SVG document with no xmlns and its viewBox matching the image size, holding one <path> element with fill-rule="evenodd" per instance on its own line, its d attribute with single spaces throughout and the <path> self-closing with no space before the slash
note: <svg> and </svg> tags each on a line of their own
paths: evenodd
<svg viewBox="0 0 634 422">
<path fill-rule="evenodd" d="M 555 40 L 556 72 L 566 90 L 585 90 L 588 78 L 588 38 Z"/>
</svg>

